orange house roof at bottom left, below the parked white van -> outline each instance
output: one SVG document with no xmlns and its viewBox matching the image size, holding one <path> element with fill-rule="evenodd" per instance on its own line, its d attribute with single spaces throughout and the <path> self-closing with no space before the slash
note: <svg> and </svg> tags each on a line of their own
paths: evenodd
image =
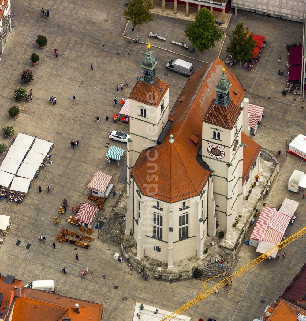
<svg viewBox="0 0 306 321">
<path fill-rule="evenodd" d="M 101 320 L 102 304 L 27 288 L 21 291 L 21 297 L 15 298 L 12 321 L 57 321 L 63 317 L 71 321 Z M 79 305 L 80 314 L 74 311 L 75 303 Z"/>
</svg>

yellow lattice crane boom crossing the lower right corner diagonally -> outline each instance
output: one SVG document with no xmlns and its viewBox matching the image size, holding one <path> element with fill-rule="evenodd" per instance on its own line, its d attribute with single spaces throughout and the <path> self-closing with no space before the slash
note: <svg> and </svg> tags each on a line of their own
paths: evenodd
<svg viewBox="0 0 306 321">
<path fill-rule="evenodd" d="M 208 280 L 204 281 L 200 293 L 194 299 L 192 299 L 188 303 L 184 304 L 182 307 L 180 307 L 176 311 L 172 312 L 169 316 L 163 318 L 162 321 L 172 320 L 173 318 L 175 318 L 178 315 L 182 314 L 187 309 L 193 307 L 198 302 L 200 302 L 203 299 L 207 298 L 212 293 L 214 293 L 217 290 L 221 289 L 226 284 L 229 284 L 234 279 L 238 278 L 241 274 L 247 272 L 249 269 L 251 269 L 252 267 L 257 265 L 258 263 L 262 262 L 263 260 L 265 260 L 269 256 L 271 256 L 273 253 L 278 252 L 280 249 L 282 249 L 283 247 L 285 247 L 286 245 L 288 245 L 292 241 L 296 240 L 300 236 L 304 235 L 305 233 L 306 233 L 306 227 L 303 227 L 302 230 L 299 230 L 295 234 L 291 235 L 289 238 L 285 239 L 283 242 L 281 242 L 278 245 L 276 245 L 275 247 L 271 248 L 269 251 L 267 251 L 266 253 L 262 254 L 257 259 L 255 259 L 252 262 L 250 262 L 249 264 L 243 266 L 240 270 L 238 270 L 238 271 L 234 272 L 233 274 L 229 275 L 228 277 L 223 279 L 221 282 L 215 284 L 214 286 L 212 286 L 210 289 L 208 289 L 206 291 L 205 291 L 205 284 L 206 284 L 206 281 L 208 281 Z M 209 279 L 209 280 L 211 280 L 211 279 Z"/>
</svg>

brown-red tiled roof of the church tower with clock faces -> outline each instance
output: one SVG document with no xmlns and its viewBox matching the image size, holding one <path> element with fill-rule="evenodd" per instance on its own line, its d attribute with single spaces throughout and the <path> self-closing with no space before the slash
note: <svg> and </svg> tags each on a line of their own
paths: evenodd
<svg viewBox="0 0 306 321">
<path fill-rule="evenodd" d="M 233 129 L 243 108 L 230 100 L 226 107 L 215 105 L 212 101 L 210 108 L 206 111 L 203 122 Z"/>
</svg>

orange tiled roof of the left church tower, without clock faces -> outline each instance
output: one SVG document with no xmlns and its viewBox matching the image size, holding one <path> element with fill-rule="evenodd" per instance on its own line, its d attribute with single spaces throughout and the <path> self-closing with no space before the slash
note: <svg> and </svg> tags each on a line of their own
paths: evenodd
<svg viewBox="0 0 306 321">
<path fill-rule="evenodd" d="M 153 84 L 138 80 L 128 98 L 149 106 L 158 107 L 168 88 L 169 85 L 158 77 L 156 77 Z"/>
</svg>

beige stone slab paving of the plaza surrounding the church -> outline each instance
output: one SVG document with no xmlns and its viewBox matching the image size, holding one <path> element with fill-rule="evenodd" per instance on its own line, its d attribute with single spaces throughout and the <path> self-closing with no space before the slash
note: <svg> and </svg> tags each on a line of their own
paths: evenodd
<svg viewBox="0 0 306 321">
<path fill-rule="evenodd" d="M 14 29 L 6 44 L 1 60 L 1 115 L 0 126 L 13 125 L 16 132 L 37 135 L 55 143 L 52 149 L 53 164 L 46 166 L 38 179 L 34 179 L 31 191 L 25 201 L 12 204 L 3 201 L 2 213 L 10 215 L 13 227 L 1 245 L 0 271 L 13 274 L 24 284 L 39 279 L 54 279 L 56 292 L 75 298 L 102 303 L 103 320 L 131 320 L 135 302 L 154 305 L 165 310 L 174 310 L 194 298 L 201 288 L 195 279 L 169 284 L 150 280 L 144 282 L 137 271 L 130 271 L 126 262 L 113 260 L 119 248 L 111 242 L 104 242 L 105 236 L 98 239 L 98 230 L 94 230 L 92 247 L 88 250 L 78 248 L 79 260 L 75 260 L 75 247 L 67 243 L 56 242 L 55 236 L 62 226 L 76 230 L 67 218 L 69 208 L 79 202 L 87 202 L 86 185 L 95 170 L 102 170 L 113 176 L 117 191 L 115 198 L 109 198 L 100 219 L 107 222 L 123 184 L 118 177 L 124 161 L 118 167 L 116 163 L 105 163 L 105 153 L 110 145 L 122 147 L 119 142 L 108 138 L 111 129 L 128 131 L 127 125 L 105 121 L 105 115 L 120 110 L 113 107 L 113 97 L 127 97 L 141 74 L 140 65 L 144 59 L 146 46 L 136 46 L 129 39 L 122 37 L 126 20 L 122 17 L 125 1 L 56 1 L 41 3 L 38 1 L 13 1 L 12 12 L 16 13 Z M 50 16 L 41 19 L 40 8 L 48 8 Z M 170 85 L 170 108 L 186 83 L 186 78 L 175 73 L 168 73 L 165 64 L 172 57 L 180 57 L 179 46 L 170 46 L 168 39 L 181 39 L 186 21 L 164 18 L 155 15 L 155 21 L 144 25 L 141 39 L 145 39 L 150 30 L 167 38 L 166 43 L 158 47 L 152 41 L 154 56 L 159 61 L 157 74 Z M 175 21 L 175 23 L 173 23 Z M 300 97 L 291 94 L 283 97 L 281 90 L 284 77 L 278 76 L 278 69 L 286 70 L 284 45 L 302 42 L 302 24 L 282 21 L 276 18 L 266 19 L 253 13 L 238 11 L 232 17 L 229 30 L 231 33 L 237 22 L 244 21 L 254 33 L 267 37 L 267 46 L 260 62 L 252 71 L 236 64 L 232 71 L 246 88 L 250 102 L 265 107 L 265 118 L 259 127 L 255 140 L 272 152 L 282 150 L 283 167 L 276 177 L 267 205 L 278 207 L 287 196 L 287 182 L 294 169 L 306 171 L 301 160 L 285 155 L 286 138 L 297 135 L 305 128 L 305 104 Z M 135 33 L 135 32 L 134 32 Z M 48 39 L 44 49 L 35 43 L 36 36 L 43 34 Z M 127 35 L 128 36 L 128 35 Z M 180 41 L 180 40 L 178 40 Z M 225 45 L 228 37 L 225 38 Z M 221 46 L 221 45 L 220 45 Z M 194 57 L 210 61 L 218 55 L 220 47 L 204 55 L 194 53 Z M 165 47 L 168 50 L 163 50 Z M 58 49 L 58 58 L 54 55 Z M 40 61 L 31 66 L 30 56 L 35 51 Z M 184 52 L 184 51 L 183 51 Z M 185 51 L 188 61 L 194 63 L 195 71 L 205 63 L 192 59 L 190 51 Z M 221 58 L 227 56 L 225 47 Z M 277 56 L 282 56 L 281 63 Z M 90 65 L 94 65 L 91 70 Z M 33 100 L 26 104 L 15 102 L 14 89 L 22 85 L 20 73 L 30 68 L 34 72 L 34 81 L 25 84 L 33 91 Z M 116 92 L 116 85 L 128 82 L 128 88 Z M 72 96 L 76 95 L 75 103 Z M 57 97 L 55 106 L 48 103 L 49 95 Z M 295 100 L 294 100 L 295 99 Z M 21 108 L 17 119 L 10 118 L 7 110 L 17 104 Z M 101 120 L 97 124 L 93 115 Z M 71 140 L 79 140 L 79 146 L 73 150 Z M 7 145 L 11 139 L 2 139 Z M 110 143 L 108 145 L 108 143 Z M 125 146 L 123 146 L 125 147 Z M 52 189 L 46 192 L 48 184 Z M 43 188 L 38 193 L 38 185 Z M 60 216 L 59 224 L 53 223 L 62 199 L 68 200 L 66 215 Z M 296 217 L 286 236 L 305 226 L 305 207 L 300 194 L 290 192 L 289 198 L 301 201 Z M 104 225 L 105 226 L 105 225 Z M 46 236 L 46 244 L 39 242 L 39 235 Z M 102 234 L 102 232 L 101 232 Z M 20 240 L 19 246 L 15 245 Z M 31 244 L 29 249 L 25 247 Z M 184 314 L 198 320 L 214 317 L 219 320 L 253 320 L 260 317 L 268 304 L 277 299 L 287 283 L 299 270 L 305 258 L 305 238 L 302 237 L 290 245 L 284 252 L 284 260 L 266 260 L 235 280 L 230 291 L 224 289 L 218 295 L 212 295 Z M 237 255 L 236 269 L 244 266 L 258 256 L 254 248 L 243 245 Z M 66 266 L 68 275 L 59 273 L 59 268 Z M 89 267 L 91 274 L 82 279 L 80 273 Z M 103 280 L 103 273 L 106 274 Z M 214 282 L 209 282 L 213 285 Z M 206 286 L 206 287 L 207 287 Z"/>
</svg>

